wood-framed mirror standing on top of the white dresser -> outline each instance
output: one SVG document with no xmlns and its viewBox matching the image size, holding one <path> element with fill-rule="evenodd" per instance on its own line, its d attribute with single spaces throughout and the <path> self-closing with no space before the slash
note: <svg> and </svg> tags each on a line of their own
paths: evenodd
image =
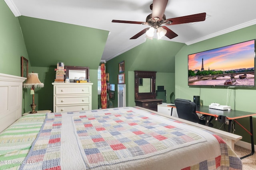
<svg viewBox="0 0 256 170">
<path fill-rule="evenodd" d="M 89 67 L 84 66 L 65 66 L 66 77 L 75 79 L 75 77 L 85 77 L 89 80 Z"/>
</svg>

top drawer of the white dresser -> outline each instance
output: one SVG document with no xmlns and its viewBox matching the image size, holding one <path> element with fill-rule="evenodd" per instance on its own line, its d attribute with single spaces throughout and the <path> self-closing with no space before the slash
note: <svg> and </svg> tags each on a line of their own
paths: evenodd
<svg viewBox="0 0 256 170">
<path fill-rule="evenodd" d="M 55 86 L 55 94 L 90 94 L 92 86 Z"/>
</svg>

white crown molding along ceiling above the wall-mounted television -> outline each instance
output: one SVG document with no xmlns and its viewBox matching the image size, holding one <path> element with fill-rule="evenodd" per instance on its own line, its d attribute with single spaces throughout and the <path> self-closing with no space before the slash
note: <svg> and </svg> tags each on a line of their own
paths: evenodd
<svg viewBox="0 0 256 170">
<path fill-rule="evenodd" d="M 256 24 L 256 20 L 252 20 L 252 21 L 248 21 L 248 22 L 245 22 L 245 23 L 242 23 L 242 24 L 239 24 L 239 25 L 236 25 L 234 27 L 230 27 L 228 29 L 224 29 L 222 31 L 218 31 L 216 33 L 212 33 L 210 35 L 206 35 L 204 37 L 201 37 L 201 38 L 198 38 L 198 39 L 194 39 L 193 41 L 188 41 L 186 42 L 185 44 L 186 45 L 191 45 L 191 44 L 194 44 L 194 43 L 198 43 L 200 41 L 204 41 L 206 39 L 210 39 L 210 38 L 213 38 L 213 37 L 217 37 L 219 35 L 223 35 L 225 33 L 230 33 L 232 31 L 236 31 L 238 29 L 242 29 L 242 28 L 245 28 L 245 27 L 249 27 L 251 25 L 255 25 Z"/>
</svg>

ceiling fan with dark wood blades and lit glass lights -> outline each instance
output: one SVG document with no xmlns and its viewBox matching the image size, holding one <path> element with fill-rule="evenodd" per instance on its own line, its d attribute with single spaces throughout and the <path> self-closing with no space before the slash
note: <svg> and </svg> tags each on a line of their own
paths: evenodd
<svg viewBox="0 0 256 170">
<path fill-rule="evenodd" d="M 123 20 L 112 20 L 112 22 L 117 23 L 134 23 L 134 24 L 142 24 L 142 25 L 150 25 L 151 27 L 145 28 L 130 39 L 136 39 L 146 33 L 147 37 L 152 39 L 154 36 L 154 31 L 157 29 L 158 39 L 163 36 L 172 39 L 177 37 L 178 35 L 170 30 L 166 26 L 161 25 L 176 25 L 181 23 L 190 23 L 190 22 L 198 22 L 204 21 L 206 17 L 206 13 L 193 14 L 189 16 L 182 16 L 177 18 L 166 19 L 164 15 L 165 8 L 167 6 L 168 0 L 153 0 L 153 4 L 150 5 L 150 9 L 152 10 L 152 14 L 148 15 L 146 18 L 146 22 L 140 21 L 123 21 Z"/>
</svg>

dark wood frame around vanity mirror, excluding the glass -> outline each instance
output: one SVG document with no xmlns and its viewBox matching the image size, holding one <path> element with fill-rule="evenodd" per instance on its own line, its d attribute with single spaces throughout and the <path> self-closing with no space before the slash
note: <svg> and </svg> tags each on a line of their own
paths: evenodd
<svg viewBox="0 0 256 170">
<path fill-rule="evenodd" d="M 135 76 L 135 100 L 156 98 L 156 72 L 154 71 L 134 71 Z M 151 92 L 139 93 L 140 78 L 151 78 Z"/>
</svg>

